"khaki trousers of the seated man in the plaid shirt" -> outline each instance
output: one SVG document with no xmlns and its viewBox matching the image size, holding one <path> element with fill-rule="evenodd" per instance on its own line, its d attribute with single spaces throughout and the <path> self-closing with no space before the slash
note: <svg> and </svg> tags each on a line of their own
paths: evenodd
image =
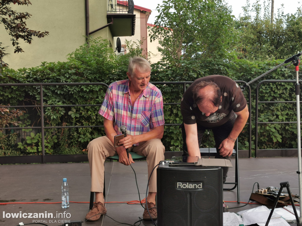
<svg viewBox="0 0 302 226">
<path fill-rule="evenodd" d="M 117 152 L 108 137 L 98 137 L 88 143 L 88 160 L 91 175 L 91 191 L 104 191 L 104 162 L 106 157 L 117 155 Z M 139 146 L 132 146 L 129 151 L 146 156 L 148 165 L 148 179 L 153 168 L 164 160 L 165 147 L 160 139 L 151 139 L 140 142 Z M 130 166 L 129 166 L 130 167 Z M 149 181 L 149 192 L 156 192 L 156 170 Z"/>
</svg>

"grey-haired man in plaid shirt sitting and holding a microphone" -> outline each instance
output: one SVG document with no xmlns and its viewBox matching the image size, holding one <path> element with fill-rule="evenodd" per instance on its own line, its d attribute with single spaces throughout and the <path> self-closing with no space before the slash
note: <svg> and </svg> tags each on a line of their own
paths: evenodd
<svg viewBox="0 0 302 226">
<path fill-rule="evenodd" d="M 124 165 L 134 163 L 126 149 L 146 156 L 148 178 L 153 168 L 164 160 L 165 147 L 161 142 L 164 133 L 163 100 L 160 90 L 149 83 L 151 67 L 140 57 L 130 58 L 127 80 L 111 83 L 107 89 L 99 114 L 104 117 L 106 136 L 92 140 L 88 148 L 91 174 L 91 191 L 95 192 L 95 204 L 85 219 L 96 221 L 107 212 L 104 206 L 104 161 L 106 157 L 118 155 Z M 127 136 L 115 147 L 114 136 L 121 134 L 120 127 L 127 127 Z M 122 187 L 122 185 L 121 185 Z M 143 219 L 156 219 L 156 173 L 149 181 L 146 199 L 149 213 L 145 208 Z M 151 216 L 151 218 L 150 218 Z"/>
</svg>

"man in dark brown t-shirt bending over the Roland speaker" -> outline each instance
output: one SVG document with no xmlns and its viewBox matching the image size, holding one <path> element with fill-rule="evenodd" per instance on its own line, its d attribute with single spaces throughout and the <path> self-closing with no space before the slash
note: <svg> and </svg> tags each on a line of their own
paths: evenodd
<svg viewBox="0 0 302 226">
<path fill-rule="evenodd" d="M 215 158 L 230 159 L 234 143 L 243 130 L 249 110 L 237 83 L 222 75 L 196 79 L 185 91 L 181 102 L 184 156 L 201 158 L 199 147 L 205 130 L 214 133 Z M 223 183 L 228 167 L 223 168 Z"/>
</svg>

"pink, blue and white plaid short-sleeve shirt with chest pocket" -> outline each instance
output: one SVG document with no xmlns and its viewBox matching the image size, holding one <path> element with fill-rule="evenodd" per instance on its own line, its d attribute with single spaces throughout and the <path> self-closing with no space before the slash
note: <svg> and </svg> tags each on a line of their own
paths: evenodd
<svg viewBox="0 0 302 226">
<path fill-rule="evenodd" d="M 107 89 L 99 114 L 114 121 L 114 130 L 121 134 L 120 126 L 127 127 L 127 134 L 140 135 L 165 124 L 161 91 L 151 83 L 131 104 L 130 80 L 111 83 Z"/>
</svg>

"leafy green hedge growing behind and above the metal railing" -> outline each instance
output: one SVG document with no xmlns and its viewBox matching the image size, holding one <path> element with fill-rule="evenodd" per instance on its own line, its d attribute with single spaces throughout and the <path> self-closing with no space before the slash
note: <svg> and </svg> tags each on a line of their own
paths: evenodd
<svg viewBox="0 0 302 226">
<path fill-rule="evenodd" d="M 115 56 L 103 45 L 103 40 L 91 42 L 91 46 L 81 46 L 69 55 L 66 62 L 43 62 L 39 67 L 22 68 L 14 71 L 4 68 L 0 79 L 2 83 L 78 83 L 102 82 L 110 84 L 126 79 L 129 55 Z M 132 55 L 139 55 L 138 47 L 133 47 Z M 135 52 L 137 51 L 137 52 Z M 131 55 L 131 54 L 130 54 Z M 208 59 L 202 62 L 179 61 L 152 64 L 151 82 L 193 81 L 210 74 L 221 74 L 234 80 L 249 82 L 270 70 L 283 60 L 269 62 L 251 62 Z M 252 83 L 252 149 L 255 148 L 255 88 L 261 80 L 293 80 L 294 66 L 288 69 L 279 67 L 265 77 Z M 164 103 L 179 103 L 183 85 L 158 85 L 163 94 Z M 259 93 L 261 101 L 294 101 L 294 85 L 266 84 Z M 44 105 L 97 105 L 101 104 L 106 91 L 105 86 L 44 86 Z M 245 95 L 246 95 L 245 91 Z M 1 105 L 40 105 L 39 86 L 2 86 L 0 87 Z M 40 126 L 37 107 L 20 109 L 0 108 L 0 127 L 28 127 L 20 130 L 0 130 L 0 155 L 40 155 L 41 133 L 31 127 Z M 16 111 L 17 112 L 16 112 Z M 99 126 L 103 119 L 98 115 L 99 106 L 44 107 L 45 126 Z M 164 105 L 165 123 L 181 124 L 179 105 Z M 14 117 L 15 116 L 15 117 Z M 296 121 L 295 104 L 261 104 L 259 121 Z M 90 140 L 104 135 L 98 128 L 59 128 L 45 130 L 45 152 L 47 154 L 86 153 Z M 258 128 L 258 149 L 296 148 L 295 124 L 262 124 Z M 180 151 L 182 137 L 179 126 L 165 126 L 162 142 L 166 151 Z M 203 147 L 214 145 L 213 136 L 204 136 Z M 247 126 L 239 137 L 239 149 L 248 149 Z"/>
</svg>

